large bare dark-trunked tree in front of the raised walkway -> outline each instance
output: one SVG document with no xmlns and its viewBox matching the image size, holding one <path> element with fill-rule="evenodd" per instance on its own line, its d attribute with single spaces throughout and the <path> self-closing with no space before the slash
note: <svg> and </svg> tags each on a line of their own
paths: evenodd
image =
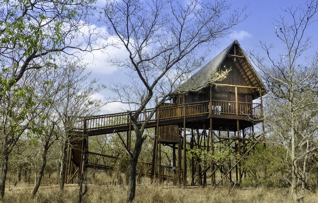
<svg viewBox="0 0 318 203">
<path fill-rule="evenodd" d="M 109 34 L 128 55 L 124 60 L 109 61 L 131 71 L 131 80 L 114 84 L 113 90 L 118 94 L 117 101 L 136 105 L 136 112 L 129 111 L 136 142 L 133 151 L 127 150 L 130 156 L 128 202 L 135 197 L 136 164 L 147 138 L 144 135 L 147 122 L 172 97 L 182 78 L 202 65 L 204 56 L 197 58 L 197 49 L 216 43 L 240 22 L 244 8 L 230 11 L 226 1 L 213 2 L 110 0 L 104 7 Z M 138 125 L 138 116 L 151 102 L 154 110 Z"/>
</svg>

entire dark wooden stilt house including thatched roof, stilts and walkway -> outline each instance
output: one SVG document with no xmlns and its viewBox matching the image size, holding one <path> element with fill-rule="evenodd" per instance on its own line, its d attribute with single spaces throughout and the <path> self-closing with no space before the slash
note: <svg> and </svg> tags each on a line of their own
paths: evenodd
<svg viewBox="0 0 318 203">
<path fill-rule="evenodd" d="M 225 80 L 210 82 L 215 72 L 226 69 L 230 71 Z M 172 173 L 179 183 L 183 181 L 185 185 L 187 144 L 190 148 L 196 146 L 213 154 L 216 142 L 227 142 L 238 154 L 247 154 L 250 149 L 244 149 L 243 152 L 242 143 L 255 140 L 253 126 L 263 120 L 262 96 L 267 90 L 238 41 L 233 41 L 176 91 L 185 94 L 175 97 L 173 103 L 161 106 L 147 124 L 148 128 L 156 129 L 153 162 L 149 174 L 151 177 L 164 180 L 169 177 L 168 173 Z M 260 102 L 254 103 L 256 99 Z M 139 121 L 144 121 L 144 114 L 147 116 L 151 110 L 147 109 L 141 114 Z M 186 129 L 191 129 L 189 135 Z M 79 119 L 70 132 L 73 147 L 68 150 L 67 182 L 87 167 L 105 170 L 114 168 L 116 157 L 89 152 L 89 136 L 127 131 L 127 144 L 130 145 L 132 130 L 133 126 L 126 112 Z M 248 131 L 250 133 L 247 133 Z M 186 139 L 187 136 L 191 137 Z M 187 140 L 190 140 L 190 144 Z M 161 165 L 161 144 L 173 148 L 172 168 Z M 211 172 L 211 184 L 215 184 L 215 171 L 218 168 L 223 178 L 227 177 L 232 181 L 231 170 L 235 167 L 236 181 L 239 182 L 242 178 L 242 171 L 237 168 L 240 160 L 230 162 L 227 166 L 229 168 L 211 161 L 208 163 L 209 167 L 204 169 L 199 160 L 192 158 L 191 184 L 194 184 L 194 176 L 197 177 L 197 183 L 201 184 L 202 176 L 202 184 L 206 183 L 208 169 Z M 195 162 L 197 170 L 194 170 Z"/>
</svg>

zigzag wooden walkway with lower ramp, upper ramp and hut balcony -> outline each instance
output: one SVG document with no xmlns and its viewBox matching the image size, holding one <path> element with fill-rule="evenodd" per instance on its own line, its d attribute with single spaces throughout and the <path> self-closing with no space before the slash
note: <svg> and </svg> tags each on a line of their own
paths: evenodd
<svg viewBox="0 0 318 203">
<path fill-rule="evenodd" d="M 153 110 L 153 108 L 146 109 L 139 115 L 139 126 L 150 117 Z M 156 143 L 179 144 L 181 142 L 179 129 L 184 126 L 184 123 L 186 123 L 186 128 L 207 129 L 208 127 L 206 128 L 205 126 L 210 126 L 210 118 L 212 118 L 212 130 L 228 130 L 235 132 L 237 131 L 237 123 L 239 123 L 239 129 L 244 129 L 253 126 L 255 123 L 261 122 L 261 111 L 261 104 L 252 102 L 211 100 L 185 104 L 167 103 L 164 104 L 164 106 L 159 107 L 159 109 L 151 116 L 149 122 L 146 124 L 146 128 L 159 127 L 159 138 Z M 134 113 L 135 112 L 132 112 L 132 114 Z M 233 122 L 233 120 L 240 122 Z M 81 173 L 85 168 L 95 168 L 100 170 L 115 169 L 117 157 L 89 151 L 89 136 L 105 135 L 114 132 L 129 132 L 134 130 L 128 112 L 77 118 L 73 126 L 74 127 L 70 132 L 70 136 L 72 137 L 70 143 L 72 149 L 69 151 L 67 164 L 68 182 L 77 171 Z M 83 137 L 83 135 L 85 136 Z M 84 154 L 81 153 L 82 151 L 84 151 Z M 155 156 L 154 159 L 156 160 L 157 156 Z M 149 164 L 145 164 L 145 166 L 147 166 L 147 169 L 142 172 L 141 176 L 153 176 L 154 174 L 157 174 L 154 172 L 154 168 L 150 168 Z M 175 179 L 174 174 L 176 174 L 176 171 L 173 171 L 172 167 L 159 167 L 161 167 L 158 169 L 160 180 Z"/>
</svg>

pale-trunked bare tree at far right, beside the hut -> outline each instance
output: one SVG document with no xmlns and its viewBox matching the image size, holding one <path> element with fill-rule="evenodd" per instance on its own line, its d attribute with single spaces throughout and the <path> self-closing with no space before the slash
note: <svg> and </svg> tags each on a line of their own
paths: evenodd
<svg viewBox="0 0 318 203">
<path fill-rule="evenodd" d="M 310 0 L 283 12 L 286 16 L 274 23 L 275 35 L 285 45 L 284 53 L 273 56 L 274 45 L 261 42 L 267 57 L 254 59 L 270 90 L 266 102 L 267 129 L 276 136 L 275 142 L 287 149 L 292 165 L 293 202 L 297 203 L 304 201 L 307 162 L 318 148 L 318 54 L 304 56 L 311 47 L 308 29 L 317 20 L 318 1 Z"/>
</svg>

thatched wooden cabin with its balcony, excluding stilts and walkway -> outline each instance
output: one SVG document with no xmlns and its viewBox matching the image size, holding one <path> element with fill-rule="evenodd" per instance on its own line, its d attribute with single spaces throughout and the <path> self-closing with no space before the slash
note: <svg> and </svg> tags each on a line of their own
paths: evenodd
<svg viewBox="0 0 318 203">
<path fill-rule="evenodd" d="M 228 74 L 224 80 L 214 81 L 218 74 Z M 211 81 L 214 81 L 211 83 Z M 254 100 L 266 94 L 266 88 L 238 43 L 233 41 L 224 51 L 194 74 L 178 88 L 184 95 L 173 100 L 175 104 L 188 104 L 187 113 L 200 114 L 208 111 L 213 118 L 212 130 L 237 130 L 253 125 L 261 116 L 261 103 Z M 190 126 L 203 129 L 207 121 Z"/>
</svg>

